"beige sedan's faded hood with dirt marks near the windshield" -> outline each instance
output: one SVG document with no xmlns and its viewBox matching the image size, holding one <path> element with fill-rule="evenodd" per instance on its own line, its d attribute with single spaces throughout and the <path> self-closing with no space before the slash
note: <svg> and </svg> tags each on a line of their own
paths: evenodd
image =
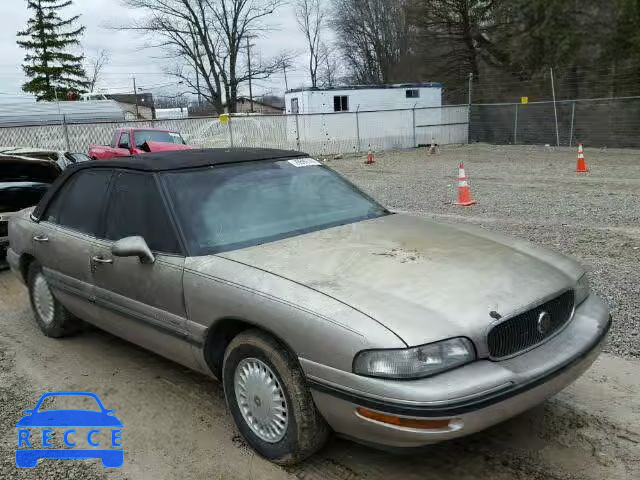
<svg viewBox="0 0 640 480">
<path fill-rule="evenodd" d="M 399 214 L 220 256 L 346 303 L 407 345 L 484 338 L 491 312 L 522 311 L 582 274 L 573 260 L 525 241 Z"/>
</svg>

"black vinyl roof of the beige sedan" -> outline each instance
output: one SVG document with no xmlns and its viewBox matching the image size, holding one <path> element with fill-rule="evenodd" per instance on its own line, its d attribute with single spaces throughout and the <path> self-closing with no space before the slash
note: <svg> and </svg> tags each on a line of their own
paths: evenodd
<svg viewBox="0 0 640 480">
<path fill-rule="evenodd" d="M 143 172 L 164 172 L 188 168 L 225 165 L 230 163 L 255 162 L 260 160 L 278 160 L 284 158 L 307 157 L 308 154 L 294 150 L 273 148 L 203 148 L 177 150 L 171 152 L 145 153 L 133 157 L 120 157 L 112 160 L 91 160 L 80 162 L 66 168 L 62 175 L 47 190 L 32 216 L 39 220 L 56 192 L 67 178 L 79 170 L 96 168 L 125 168 Z"/>
</svg>

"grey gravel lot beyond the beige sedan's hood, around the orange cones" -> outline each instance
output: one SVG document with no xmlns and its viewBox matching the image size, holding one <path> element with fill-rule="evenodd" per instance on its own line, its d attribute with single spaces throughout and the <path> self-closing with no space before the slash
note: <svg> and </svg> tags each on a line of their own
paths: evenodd
<svg viewBox="0 0 640 480">
<path fill-rule="evenodd" d="M 640 151 L 589 150 L 575 173 L 569 148 L 471 145 L 329 160 L 390 209 L 469 222 L 577 258 L 614 324 L 606 351 L 640 357 Z M 464 161 L 473 207 L 453 205 Z"/>
</svg>

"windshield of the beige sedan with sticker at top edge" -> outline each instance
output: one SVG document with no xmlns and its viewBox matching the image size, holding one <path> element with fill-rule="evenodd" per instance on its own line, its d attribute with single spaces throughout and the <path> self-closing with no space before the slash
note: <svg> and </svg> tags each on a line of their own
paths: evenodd
<svg viewBox="0 0 640 480">
<path fill-rule="evenodd" d="M 388 213 L 314 160 L 250 162 L 163 175 L 193 255 Z"/>
</svg>

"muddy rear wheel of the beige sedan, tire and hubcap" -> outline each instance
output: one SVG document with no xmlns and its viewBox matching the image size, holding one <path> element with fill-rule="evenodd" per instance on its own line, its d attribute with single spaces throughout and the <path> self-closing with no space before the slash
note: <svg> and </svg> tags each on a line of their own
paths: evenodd
<svg viewBox="0 0 640 480">
<path fill-rule="evenodd" d="M 42 283 L 44 282 L 44 283 Z M 53 296 L 47 283 L 46 278 L 42 274 L 42 267 L 38 262 L 32 262 L 27 272 L 27 285 L 29 286 L 29 300 L 36 323 L 42 333 L 47 337 L 60 338 L 72 335 L 81 328 L 81 322 L 74 317 L 64 306 Z M 47 293 L 50 295 L 51 304 L 42 306 L 43 301 L 38 305 L 38 295 Z"/>
</svg>

